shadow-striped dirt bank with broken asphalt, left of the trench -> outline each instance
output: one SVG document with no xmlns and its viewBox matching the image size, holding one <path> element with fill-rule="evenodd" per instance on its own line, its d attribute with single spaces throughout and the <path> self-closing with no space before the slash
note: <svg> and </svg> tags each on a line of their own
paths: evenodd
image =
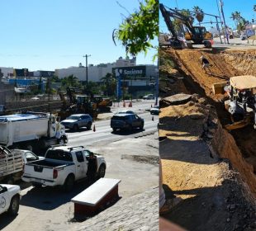
<svg viewBox="0 0 256 231">
<path fill-rule="evenodd" d="M 167 136 L 159 143 L 164 191 L 167 198 L 183 199 L 164 218 L 188 230 L 254 230 L 255 209 L 244 198 L 238 172 L 214 152 L 223 148 L 216 139 L 219 126 L 215 108 L 197 95 L 161 108 L 159 136 Z"/>
</svg>

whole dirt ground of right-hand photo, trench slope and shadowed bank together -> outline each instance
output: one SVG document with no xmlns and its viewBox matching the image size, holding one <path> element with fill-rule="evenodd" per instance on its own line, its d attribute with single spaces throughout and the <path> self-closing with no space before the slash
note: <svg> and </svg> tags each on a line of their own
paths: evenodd
<svg viewBox="0 0 256 231">
<path fill-rule="evenodd" d="M 201 55 L 209 59 L 212 75 L 201 68 Z M 159 67 L 162 97 L 179 92 L 197 93 L 205 97 L 201 100 L 202 105 L 207 101 L 216 107 L 217 113 L 211 115 L 211 110 L 194 106 L 192 102 L 186 106 L 161 108 L 159 135 L 168 137 L 159 144 L 161 158 L 165 158 L 164 189 L 170 197 L 175 195 L 185 199 L 166 217 L 189 230 L 256 229 L 252 204 L 255 197 L 243 196 L 242 193 L 242 185 L 250 184 L 248 191 L 255 196 L 255 131 L 251 127 L 232 131 L 233 139 L 222 130 L 219 122 L 216 123 L 217 134 L 206 135 L 203 129 L 208 115 L 216 120 L 219 118 L 222 124 L 230 122 L 221 103 L 224 96 L 213 95 L 212 84 L 227 82 L 232 76 L 256 73 L 255 55 L 255 50 L 160 50 L 160 59 L 164 57 Z M 206 139 L 216 136 L 212 141 L 216 153 L 207 148 L 209 144 L 203 141 L 205 135 Z M 233 158 L 232 163 L 221 159 L 218 154 Z M 240 167 L 241 173 L 234 172 L 230 168 L 232 165 L 236 169 Z M 241 181 L 246 177 L 249 184 Z M 250 203 L 245 197 L 251 199 Z"/>
</svg>

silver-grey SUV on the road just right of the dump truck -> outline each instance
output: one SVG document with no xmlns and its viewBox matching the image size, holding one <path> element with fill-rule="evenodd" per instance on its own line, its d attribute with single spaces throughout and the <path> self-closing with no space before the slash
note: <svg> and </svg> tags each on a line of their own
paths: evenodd
<svg viewBox="0 0 256 231">
<path fill-rule="evenodd" d="M 82 127 L 86 127 L 88 130 L 92 127 L 92 116 L 89 114 L 74 114 L 70 115 L 66 120 L 60 122 L 66 129 L 74 131 L 79 130 Z"/>
</svg>

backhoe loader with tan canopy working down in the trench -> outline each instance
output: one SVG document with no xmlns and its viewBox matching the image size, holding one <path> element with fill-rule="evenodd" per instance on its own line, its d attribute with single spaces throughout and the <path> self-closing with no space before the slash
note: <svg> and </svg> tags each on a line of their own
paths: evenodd
<svg viewBox="0 0 256 231">
<path fill-rule="evenodd" d="M 256 77 L 252 75 L 230 78 L 230 86 L 225 87 L 230 100 L 225 101 L 233 124 L 225 125 L 228 130 L 243 128 L 253 122 L 256 129 Z"/>
</svg>

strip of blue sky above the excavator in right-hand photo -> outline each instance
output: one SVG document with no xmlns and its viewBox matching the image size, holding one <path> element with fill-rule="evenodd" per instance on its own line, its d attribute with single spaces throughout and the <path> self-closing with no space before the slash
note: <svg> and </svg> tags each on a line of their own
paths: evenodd
<svg viewBox="0 0 256 231">
<path fill-rule="evenodd" d="M 190 9 L 194 6 L 200 7 L 204 12 L 212 15 L 219 15 L 217 3 L 220 2 L 219 0 L 159 0 L 162 2 L 164 6 L 174 8 L 178 7 L 179 9 Z M 255 12 L 253 11 L 254 5 L 256 4 L 255 0 L 223 0 L 224 6 L 224 14 L 225 14 L 225 22 L 227 26 L 231 26 L 231 28 L 235 28 L 235 22 L 230 19 L 232 12 L 240 12 L 241 16 L 243 16 L 246 20 L 251 21 L 253 18 L 256 19 Z M 159 14 L 160 24 L 159 24 L 159 31 L 168 32 L 167 26 L 164 23 L 164 19 Z M 204 21 L 215 21 L 214 17 L 206 17 Z M 211 26 L 211 24 L 205 24 L 204 26 Z M 214 25 L 212 25 L 214 26 Z"/>
</svg>

